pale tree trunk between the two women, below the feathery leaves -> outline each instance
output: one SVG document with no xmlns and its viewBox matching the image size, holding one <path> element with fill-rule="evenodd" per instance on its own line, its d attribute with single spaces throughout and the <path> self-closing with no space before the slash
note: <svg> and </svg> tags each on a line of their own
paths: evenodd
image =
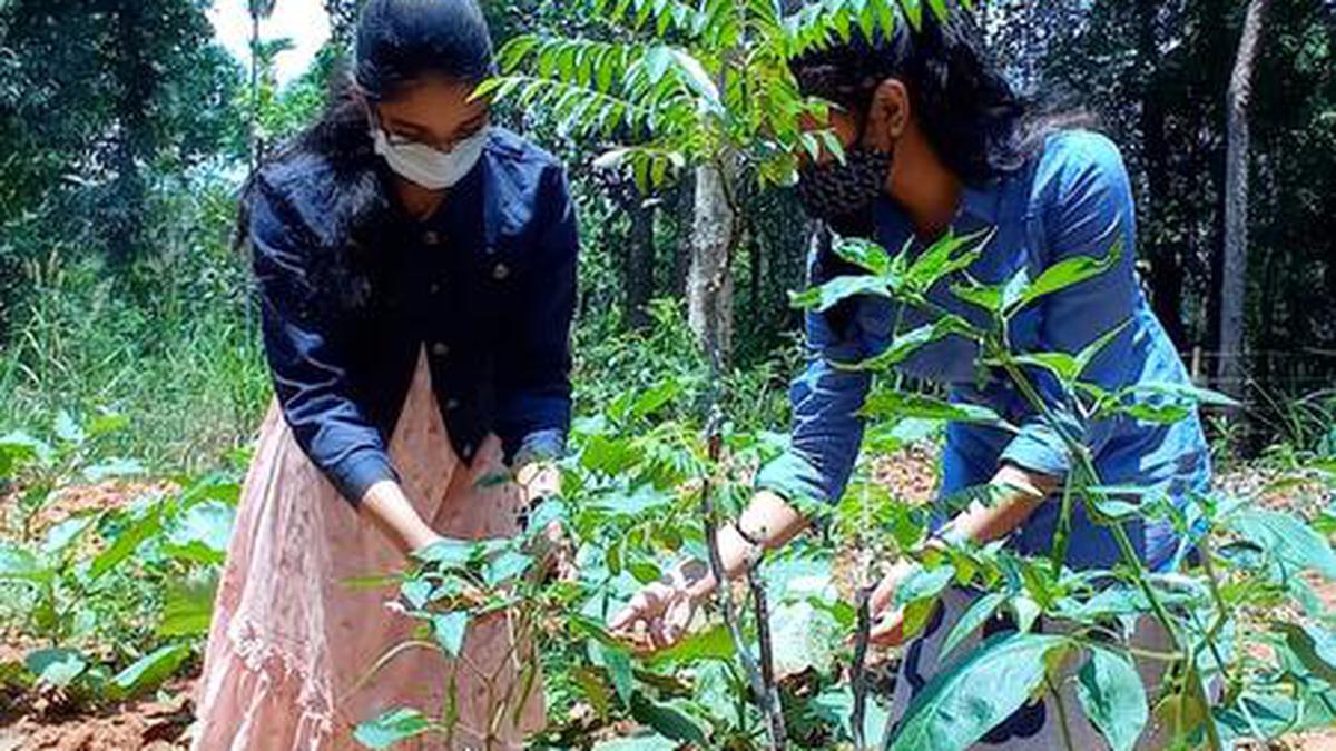
<svg viewBox="0 0 1336 751">
<path fill-rule="evenodd" d="M 728 167 L 723 167 L 727 170 Z M 729 255 L 737 218 L 729 203 L 725 175 L 717 164 L 696 168 L 696 200 L 687 273 L 687 322 L 717 365 L 732 351 L 733 281 Z"/>
</svg>

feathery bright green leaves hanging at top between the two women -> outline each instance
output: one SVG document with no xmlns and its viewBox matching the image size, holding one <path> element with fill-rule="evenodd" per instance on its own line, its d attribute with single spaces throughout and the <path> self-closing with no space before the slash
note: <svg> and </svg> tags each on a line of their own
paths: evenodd
<svg viewBox="0 0 1336 751">
<path fill-rule="evenodd" d="M 545 115 L 572 138 L 607 146 L 599 164 L 628 167 L 643 187 L 688 166 L 740 160 L 766 183 L 792 180 L 796 155 L 842 154 L 828 104 L 788 69 L 804 51 L 854 29 L 890 32 L 923 20 L 919 0 L 820 0 L 786 13 L 780 0 L 581 0 L 581 36 L 522 35 L 500 51 L 501 75 L 477 96 Z M 946 15 L 945 3 L 930 3 Z"/>
</svg>

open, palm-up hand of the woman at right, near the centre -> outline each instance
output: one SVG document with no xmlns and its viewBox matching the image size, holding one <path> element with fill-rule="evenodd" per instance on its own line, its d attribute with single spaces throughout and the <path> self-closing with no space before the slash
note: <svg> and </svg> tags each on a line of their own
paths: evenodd
<svg viewBox="0 0 1336 751">
<path fill-rule="evenodd" d="M 672 647 L 687 633 L 700 603 L 713 589 L 707 585 L 709 567 L 689 560 L 636 592 L 627 607 L 608 621 L 608 629 L 640 652 Z"/>
</svg>

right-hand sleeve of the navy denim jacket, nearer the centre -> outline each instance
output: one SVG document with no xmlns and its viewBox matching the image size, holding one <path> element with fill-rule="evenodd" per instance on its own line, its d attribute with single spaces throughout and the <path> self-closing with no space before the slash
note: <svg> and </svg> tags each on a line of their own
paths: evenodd
<svg viewBox="0 0 1336 751">
<path fill-rule="evenodd" d="M 497 380 L 497 433 L 512 464 L 564 453 L 570 429 L 570 322 L 578 231 L 565 174 L 548 167 L 537 261 L 516 281 Z"/>
</svg>

